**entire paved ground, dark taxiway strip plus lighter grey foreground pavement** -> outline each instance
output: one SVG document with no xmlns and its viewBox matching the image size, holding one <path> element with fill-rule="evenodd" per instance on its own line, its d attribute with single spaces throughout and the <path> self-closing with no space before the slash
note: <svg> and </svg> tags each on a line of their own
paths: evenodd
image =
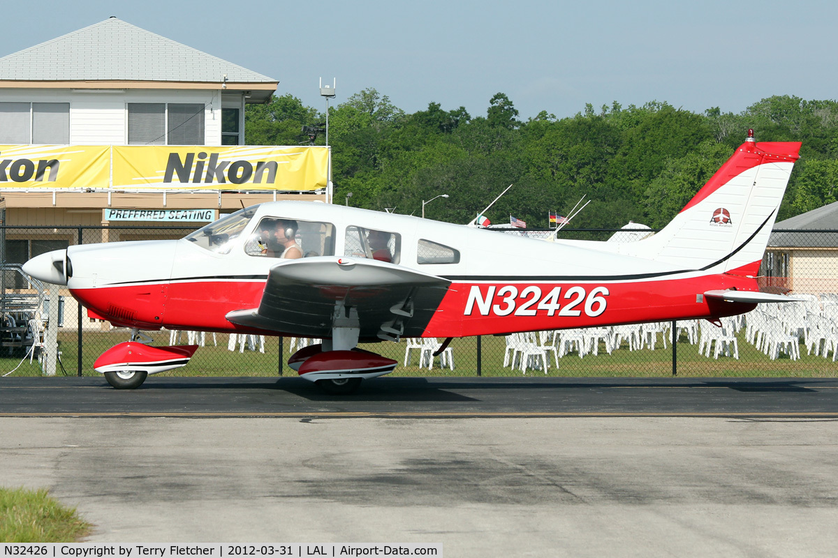
<svg viewBox="0 0 838 558">
<path fill-rule="evenodd" d="M 0 413 L 2 484 L 51 489 L 94 542 L 838 552 L 831 379 L 3 378 Z"/>
</svg>

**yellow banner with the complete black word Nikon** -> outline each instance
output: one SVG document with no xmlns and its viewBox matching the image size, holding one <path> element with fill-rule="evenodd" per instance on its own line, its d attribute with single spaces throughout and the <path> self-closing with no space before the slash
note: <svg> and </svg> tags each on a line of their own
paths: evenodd
<svg viewBox="0 0 838 558">
<path fill-rule="evenodd" d="M 317 190 L 328 147 L 113 146 L 112 180 L 120 190 Z"/>
</svg>

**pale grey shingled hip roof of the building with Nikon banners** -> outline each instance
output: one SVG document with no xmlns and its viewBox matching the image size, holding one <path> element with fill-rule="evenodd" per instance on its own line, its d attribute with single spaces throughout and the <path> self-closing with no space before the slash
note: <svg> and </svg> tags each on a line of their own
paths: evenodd
<svg viewBox="0 0 838 558">
<path fill-rule="evenodd" d="M 0 58 L 0 81 L 151 81 L 273 85 L 258 74 L 118 18 Z M 95 85 L 88 85 L 95 86 Z M 256 89 L 256 87 L 254 87 Z M 264 89 L 262 87 L 261 89 Z"/>
</svg>

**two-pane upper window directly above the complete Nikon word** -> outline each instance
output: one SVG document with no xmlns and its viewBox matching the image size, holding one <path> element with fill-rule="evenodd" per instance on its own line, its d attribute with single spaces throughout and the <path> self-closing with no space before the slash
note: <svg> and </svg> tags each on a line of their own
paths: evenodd
<svg viewBox="0 0 838 558">
<path fill-rule="evenodd" d="M 203 146 L 204 105 L 128 103 L 128 145 Z"/>
</svg>

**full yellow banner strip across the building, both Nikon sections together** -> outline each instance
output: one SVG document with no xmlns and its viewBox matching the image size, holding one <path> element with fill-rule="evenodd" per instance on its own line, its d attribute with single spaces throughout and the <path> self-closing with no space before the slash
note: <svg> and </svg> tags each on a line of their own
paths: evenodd
<svg viewBox="0 0 838 558">
<path fill-rule="evenodd" d="M 0 146 L 0 190 L 300 192 L 327 183 L 328 147 Z"/>
</svg>

